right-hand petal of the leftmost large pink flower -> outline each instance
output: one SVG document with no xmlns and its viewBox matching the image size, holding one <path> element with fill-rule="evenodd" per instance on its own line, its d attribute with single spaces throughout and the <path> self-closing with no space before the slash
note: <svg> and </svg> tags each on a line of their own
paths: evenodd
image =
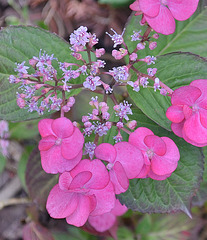
<svg viewBox="0 0 207 240">
<path fill-rule="evenodd" d="M 63 157 L 66 159 L 72 159 L 76 157 L 83 148 L 83 143 L 83 134 L 78 128 L 75 127 L 72 136 L 62 140 L 61 149 Z"/>
</svg>

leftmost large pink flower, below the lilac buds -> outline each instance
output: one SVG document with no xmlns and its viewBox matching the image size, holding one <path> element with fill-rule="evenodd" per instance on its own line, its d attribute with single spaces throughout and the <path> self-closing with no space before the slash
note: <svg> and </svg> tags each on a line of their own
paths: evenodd
<svg viewBox="0 0 207 240">
<path fill-rule="evenodd" d="M 42 168 L 47 173 L 62 173 L 73 169 L 82 158 L 84 137 L 65 118 L 42 119 L 38 124 Z"/>
</svg>

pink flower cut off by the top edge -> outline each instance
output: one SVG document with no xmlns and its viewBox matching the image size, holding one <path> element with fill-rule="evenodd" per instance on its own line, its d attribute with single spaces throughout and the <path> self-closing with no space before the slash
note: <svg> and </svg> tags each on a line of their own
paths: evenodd
<svg viewBox="0 0 207 240">
<path fill-rule="evenodd" d="M 136 0 L 130 8 L 143 13 L 142 23 L 147 21 L 156 32 L 165 35 L 175 31 L 175 19 L 184 21 L 197 9 L 199 0 Z"/>
</svg>

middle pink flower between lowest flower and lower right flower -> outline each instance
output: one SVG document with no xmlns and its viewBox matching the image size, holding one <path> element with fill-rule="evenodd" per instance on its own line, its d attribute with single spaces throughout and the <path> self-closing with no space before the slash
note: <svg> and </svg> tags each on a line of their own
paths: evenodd
<svg viewBox="0 0 207 240">
<path fill-rule="evenodd" d="M 95 149 L 95 156 L 109 162 L 107 168 L 116 194 L 128 189 L 129 179 L 140 173 L 144 163 L 141 151 L 128 142 L 119 142 L 114 146 L 102 143 Z"/>
</svg>

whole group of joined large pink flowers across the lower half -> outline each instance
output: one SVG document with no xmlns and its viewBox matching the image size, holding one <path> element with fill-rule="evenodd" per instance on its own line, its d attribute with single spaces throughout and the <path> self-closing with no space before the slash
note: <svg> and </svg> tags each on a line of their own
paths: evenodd
<svg viewBox="0 0 207 240">
<path fill-rule="evenodd" d="M 116 217 L 126 212 L 115 194 L 128 189 L 129 179 L 166 179 L 180 157 L 171 139 L 142 127 L 130 134 L 128 142 L 98 145 L 94 160 L 81 160 L 84 137 L 69 119 L 43 119 L 39 132 L 42 167 L 60 174 L 47 200 L 50 216 L 66 218 L 77 227 L 87 223 L 98 232 L 112 228 Z"/>
</svg>

